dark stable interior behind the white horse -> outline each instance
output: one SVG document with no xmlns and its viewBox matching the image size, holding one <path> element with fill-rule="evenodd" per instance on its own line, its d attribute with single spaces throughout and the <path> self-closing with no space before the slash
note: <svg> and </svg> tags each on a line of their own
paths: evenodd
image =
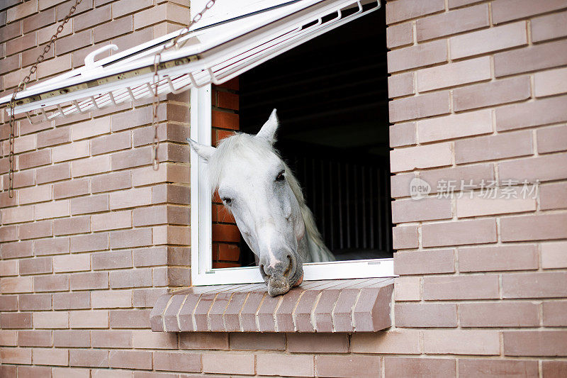
<svg viewBox="0 0 567 378">
<path fill-rule="evenodd" d="M 393 255 L 386 52 L 382 7 L 240 75 L 240 130 L 278 109 L 276 149 L 337 260 Z"/>
</svg>

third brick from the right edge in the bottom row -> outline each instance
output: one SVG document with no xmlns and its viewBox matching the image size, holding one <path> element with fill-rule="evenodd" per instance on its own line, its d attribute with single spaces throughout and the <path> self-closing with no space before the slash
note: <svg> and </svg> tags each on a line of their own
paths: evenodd
<svg viewBox="0 0 567 378">
<path fill-rule="evenodd" d="M 455 361 L 449 358 L 384 358 L 386 378 L 391 377 L 455 377 Z"/>
</svg>

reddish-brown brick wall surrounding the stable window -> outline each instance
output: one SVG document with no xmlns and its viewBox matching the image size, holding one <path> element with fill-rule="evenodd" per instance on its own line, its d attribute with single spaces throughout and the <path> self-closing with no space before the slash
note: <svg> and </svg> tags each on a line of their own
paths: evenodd
<svg viewBox="0 0 567 378">
<path fill-rule="evenodd" d="M 6 94 L 70 4 L 3 4 Z M 179 28 L 188 6 L 83 0 L 36 77 L 79 67 L 95 43 L 123 50 Z M 0 194 L 0 376 L 565 376 L 567 4 L 395 0 L 386 11 L 400 274 L 393 328 L 151 333 L 157 295 L 189 284 L 189 95 L 181 94 L 162 99 L 157 172 L 149 101 L 18 122 L 16 196 Z M 234 109 L 220 96 L 216 106 Z M 218 116 L 214 126 L 235 127 Z M 413 201 L 417 174 L 542 184 L 537 199 L 514 204 Z"/>
</svg>

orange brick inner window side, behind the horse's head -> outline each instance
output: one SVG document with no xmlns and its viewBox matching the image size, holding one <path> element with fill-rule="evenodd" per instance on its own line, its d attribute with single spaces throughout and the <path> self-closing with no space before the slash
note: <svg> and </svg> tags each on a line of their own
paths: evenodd
<svg viewBox="0 0 567 378">
<path fill-rule="evenodd" d="M 238 78 L 212 91 L 212 140 L 213 145 L 240 129 L 238 115 Z M 225 209 L 218 193 L 213 196 L 213 268 L 240 267 L 240 231 L 235 219 Z"/>
</svg>

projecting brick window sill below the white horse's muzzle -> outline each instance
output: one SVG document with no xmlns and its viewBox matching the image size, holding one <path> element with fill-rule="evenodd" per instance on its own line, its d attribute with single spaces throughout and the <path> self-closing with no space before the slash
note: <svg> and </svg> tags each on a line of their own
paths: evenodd
<svg viewBox="0 0 567 378">
<path fill-rule="evenodd" d="M 393 278 L 303 282 L 271 297 L 264 284 L 190 287 L 157 300 L 154 332 L 371 332 L 391 326 Z"/>
</svg>

